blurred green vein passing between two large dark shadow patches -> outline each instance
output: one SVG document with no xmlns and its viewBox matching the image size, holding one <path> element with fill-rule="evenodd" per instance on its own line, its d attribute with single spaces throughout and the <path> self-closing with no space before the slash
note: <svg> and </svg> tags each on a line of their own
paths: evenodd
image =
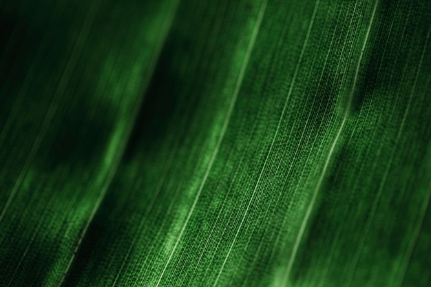
<svg viewBox="0 0 431 287">
<path fill-rule="evenodd" d="M 176 6 L 173 9 L 174 15 L 176 14 L 176 10 L 178 8 L 178 3 L 179 2 L 176 3 Z M 76 251 L 78 251 L 79 247 L 81 246 L 81 243 L 83 242 L 83 238 L 85 237 L 85 234 L 87 233 L 87 230 L 90 227 L 90 224 L 93 221 L 93 218 L 96 215 L 96 212 L 98 211 L 99 206 L 101 205 L 101 203 L 103 201 L 103 198 L 105 198 L 105 194 L 107 192 L 107 189 L 111 185 L 111 182 L 114 179 L 116 171 L 118 170 L 121 159 L 123 158 L 125 148 L 127 146 L 127 141 L 130 138 L 130 134 L 132 133 L 132 129 L 133 129 L 135 120 L 138 116 L 138 111 L 140 109 L 140 106 L 143 103 L 145 90 L 147 89 L 147 87 L 149 85 L 149 80 L 151 78 L 151 75 L 154 74 L 154 70 L 156 68 L 156 63 L 157 63 L 158 58 L 160 56 L 160 53 L 162 51 L 163 44 L 165 43 L 165 40 L 167 38 L 167 33 L 169 32 L 169 27 L 171 26 L 171 23 L 173 21 L 174 21 L 174 17 L 171 17 L 169 19 L 169 21 L 165 21 L 165 25 L 163 27 L 163 32 L 161 33 L 161 36 L 160 36 L 160 42 L 158 43 L 158 47 L 156 47 L 156 51 L 154 52 L 154 55 L 151 57 L 151 62 L 149 63 L 148 70 L 145 73 L 146 76 L 144 78 L 142 86 L 140 87 L 140 91 L 138 92 L 138 94 L 140 94 L 142 96 L 140 96 L 140 98 L 138 98 L 137 103 L 135 105 L 135 108 L 132 111 L 132 116 L 130 117 L 129 125 L 127 125 L 127 127 L 125 127 L 125 132 L 124 132 L 125 135 L 123 136 L 123 138 L 125 138 L 125 140 L 123 140 L 123 142 L 121 142 L 120 145 L 118 146 L 118 149 L 117 149 L 118 152 L 116 153 L 116 158 L 113 161 L 112 168 L 109 169 L 109 172 L 108 172 L 106 180 L 105 180 L 105 184 L 103 184 L 103 187 L 101 189 L 101 193 L 100 193 L 96 203 L 94 204 L 94 208 L 92 209 L 92 213 L 90 213 L 90 218 L 87 221 L 87 224 L 85 224 L 85 228 L 83 229 L 83 232 L 81 233 L 81 237 L 79 237 L 79 240 L 76 243 L 74 253 L 72 253 L 72 256 L 70 257 L 70 260 L 69 260 L 69 262 L 65 268 L 65 271 L 63 272 L 63 277 L 61 278 L 59 285 L 58 285 L 59 287 L 63 284 L 63 281 L 64 281 L 67 273 L 69 272 L 70 267 L 72 266 L 72 262 L 74 261 Z"/>
</svg>

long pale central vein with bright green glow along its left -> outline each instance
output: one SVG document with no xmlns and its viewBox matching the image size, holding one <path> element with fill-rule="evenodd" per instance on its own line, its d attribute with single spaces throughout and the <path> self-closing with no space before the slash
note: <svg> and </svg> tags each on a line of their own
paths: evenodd
<svg viewBox="0 0 431 287">
<path fill-rule="evenodd" d="M 254 44 L 255 44 L 255 41 L 256 41 L 256 38 L 257 38 L 257 34 L 259 33 L 259 30 L 260 30 L 260 24 L 262 23 L 262 19 L 263 19 L 263 16 L 264 16 L 264 12 L 265 12 L 266 4 L 267 3 L 268 3 L 268 0 L 262 1 L 262 5 L 260 7 L 260 12 L 257 15 L 257 20 L 256 20 L 256 23 L 255 23 L 255 27 L 253 29 L 253 33 L 251 34 L 251 39 L 250 39 L 250 42 L 249 42 L 249 46 L 247 47 L 247 50 L 246 50 L 246 55 L 244 56 L 244 62 L 242 63 L 240 74 L 238 76 L 238 81 L 237 81 L 237 83 L 235 85 L 235 89 L 234 89 L 233 96 L 232 96 L 232 99 L 231 99 L 231 104 L 229 105 L 229 110 L 227 112 L 226 118 L 224 119 L 224 125 L 222 127 L 222 131 L 220 132 L 220 137 L 218 138 L 218 142 L 215 145 L 215 149 L 213 151 L 213 156 L 211 156 L 211 160 L 209 161 L 209 165 L 207 167 L 207 171 L 204 174 L 204 178 L 202 179 L 202 182 L 201 182 L 200 187 L 198 189 L 198 193 L 196 193 L 195 200 L 193 201 L 193 204 L 191 206 L 189 214 L 187 215 L 187 219 L 185 221 L 185 224 L 181 228 L 180 235 L 178 235 L 178 238 L 176 240 L 174 248 L 172 249 L 171 254 L 169 255 L 169 258 L 167 259 L 165 267 L 163 268 L 162 273 L 160 274 L 160 277 L 159 277 L 159 279 L 157 281 L 157 285 L 156 286 L 160 285 L 160 281 L 162 280 L 162 277 L 165 274 L 167 266 L 169 265 L 169 262 L 171 262 L 172 256 L 174 255 L 174 252 L 176 251 L 176 248 L 177 248 L 177 246 L 178 246 L 178 244 L 179 244 L 179 242 L 181 240 L 182 234 L 184 233 L 185 228 L 187 227 L 187 224 L 189 223 L 189 219 L 190 219 L 191 215 L 193 214 L 195 206 L 196 206 L 196 204 L 198 202 L 198 199 L 200 197 L 200 193 L 202 192 L 202 189 L 204 188 L 204 184 L 205 184 L 205 182 L 207 182 L 207 178 L 209 176 L 209 172 L 211 171 L 211 168 L 213 167 L 213 162 L 215 160 L 215 157 L 217 156 L 218 150 L 220 149 L 220 145 L 222 144 L 222 140 L 224 138 L 224 134 L 226 134 L 227 126 L 229 125 L 229 121 L 231 120 L 231 115 L 232 115 L 232 112 L 233 112 L 233 107 L 235 106 L 236 99 L 238 98 L 238 94 L 240 92 L 240 87 L 241 87 L 242 81 L 244 79 L 244 74 L 245 74 L 245 71 L 246 71 L 246 67 L 249 65 L 249 60 L 250 60 L 251 52 L 253 51 L 253 47 L 254 47 Z"/>
</svg>

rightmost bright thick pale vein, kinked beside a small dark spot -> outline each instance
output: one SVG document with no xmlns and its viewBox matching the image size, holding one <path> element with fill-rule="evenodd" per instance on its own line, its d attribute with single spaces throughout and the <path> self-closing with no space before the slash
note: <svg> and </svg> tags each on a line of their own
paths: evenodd
<svg viewBox="0 0 431 287">
<path fill-rule="evenodd" d="M 367 29 L 367 32 L 366 32 L 364 43 L 363 43 L 363 45 L 361 47 L 361 54 L 359 55 L 359 61 L 357 63 L 357 67 L 356 67 L 356 70 L 355 70 L 355 76 L 353 78 L 353 85 L 352 85 L 352 88 L 350 89 L 349 94 L 348 94 L 348 99 L 347 99 L 348 100 L 348 105 L 346 107 L 346 110 L 344 111 L 343 120 L 342 120 L 341 125 L 340 125 L 340 127 L 338 129 L 337 136 L 335 136 L 335 140 L 333 141 L 333 144 L 330 147 L 330 150 L 329 150 L 329 153 L 328 153 L 328 157 L 326 158 L 326 161 L 325 161 L 325 164 L 324 164 L 324 168 L 323 168 L 322 173 L 321 173 L 321 175 L 319 177 L 319 181 L 317 182 L 316 188 L 315 188 L 315 190 L 313 192 L 313 197 L 311 198 L 311 202 L 308 205 L 308 209 L 307 209 L 306 214 L 304 216 L 304 220 L 302 221 L 301 227 L 299 228 L 299 233 L 298 233 L 298 235 L 296 237 L 295 244 L 293 246 L 293 251 L 292 251 L 291 257 L 290 257 L 289 262 L 288 262 L 288 266 L 287 266 L 287 270 L 286 270 L 286 275 L 284 277 L 282 286 L 286 286 L 288 277 L 289 277 L 289 275 L 291 273 L 291 270 L 292 270 L 292 267 L 293 267 L 293 263 L 295 262 L 295 257 L 296 257 L 297 251 L 299 249 L 299 244 L 301 243 L 302 237 L 304 236 L 305 228 L 306 228 L 306 226 L 308 224 L 308 220 L 310 218 L 311 211 L 313 211 L 313 206 L 315 204 L 315 201 L 316 201 L 316 198 L 317 198 L 317 194 L 319 193 L 319 189 L 322 186 L 322 182 L 323 182 L 324 177 L 326 175 L 326 170 L 328 169 L 330 159 L 333 156 L 333 153 L 334 153 L 334 150 L 335 150 L 335 146 L 337 145 L 337 142 L 339 140 L 339 136 L 341 134 L 341 131 L 343 131 L 344 126 L 346 124 L 346 120 L 348 118 L 348 114 L 349 114 L 349 111 L 350 111 L 350 105 L 352 104 L 353 94 L 355 93 L 355 87 L 357 85 L 357 78 L 358 78 L 358 75 L 359 75 L 359 67 L 361 66 L 361 61 L 362 61 L 362 58 L 364 56 L 364 49 L 366 47 L 366 44 L 368 43 L 368 38 L 370 36 L 370 30 L 371 30 L 371 27 L 372 27 L 372 22 L 375 19 L 375 14 L 376 14 L 377 4 L 378 3 L 379 3 L 379 1 L 377 0 L 375 2 L 374 8 L 372 10 L 372 15 L 371 15 L 370 23 L 368 24 L 368 29 Z"/>
</svg>

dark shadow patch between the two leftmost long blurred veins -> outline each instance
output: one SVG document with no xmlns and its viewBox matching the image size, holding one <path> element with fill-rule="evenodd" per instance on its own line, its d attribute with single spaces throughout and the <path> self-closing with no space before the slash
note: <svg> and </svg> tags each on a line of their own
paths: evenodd
<svg viewBox="0 0 431 287">
<path fill-rule="evenodd" d="M 112 107 L 106 103 L 90 102 L 91 94 L 72 98 L 69 109 L 62 115 L 60 125 L 52 127 L 42 145 L 48 153 L 38 158 L 44 171 L 70 165 L 74 172 L 83 173 L 102 156 L 114 126 Z"/>
</svg>

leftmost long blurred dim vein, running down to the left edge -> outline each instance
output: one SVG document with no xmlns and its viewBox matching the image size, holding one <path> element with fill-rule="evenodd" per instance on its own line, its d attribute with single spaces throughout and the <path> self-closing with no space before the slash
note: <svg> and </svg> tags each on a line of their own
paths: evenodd
<svg viewBox="0 0 431 287">
<path fill-rule="evenodd" d="M 30 153 L 28 155 L 27 160 L 25 160 L 23 168 L 21 169 L 21 172 L 19 173 L 19 176 L 14 184 L 14 187 L 12 188 L 12 191 L 10 192 L 10 195 L 8 197 L 8 200 L 6 201 L 5 206 L 3 207 L 3 211 L 0 215 L 0 222 L 3 220 L 4 215 L 6 214 L 6 211 L 8 211 L 8 208 L 10 204 L 12 203 L 12 200 L 14 199 L 15 195 L 17 195 L 17 192 L 19 188 L 21 187 L 21 184 L 27 175 L 28 169 L 30 169 L 30 165 L 32 164 L 33 158 L 36 155 L 36 152 L 39 150 L 39 146 L 41 145 L 43 136 L 45 136 L 45 132 L 48 129 L 48 125 L 51 123 L 52 118 L 56 112 L 56 109 L 58 107 L 58 97 L 63 95 L 65 92 L 65 88 L 67 87 L 67 84 L 69 83 L 70 74 L 72 74 L 74 67 L 76 65 L 76 61 L 78 60 L 79 54 L 81 54 L 83 49 L 83 43 L 86 41 L 87 36 L 89 34 L 90 25 L 92 24 L 92 21 L 94 20 L 94 14 L 92 11 L 93 7 L 90 8 L 89 12 L 87 13 L 87 17 L 85 18 L 85 22 L 83 24 L 83 28 L 81 30 L 81 33 L 78 36 L 78 39 L 76 39 L 76 44 L 74 45 L 74 49 L 72 50 L 72 54 L 70 55 L 69 60 L 67 61 L 66 67 L 63 70 L 63 74 L 61 76 L 61 79 L 59 81 L 59 85 L 57 86 L 56 92 L 54 94 L 54 97 L 52 99 L 52 102 L 50 103 L 50 107 L 48 107 L 48 111 L 45 115 L 45 118 L 43 119 L 43 123 L 41 125 L 41 128 L 39 129 L 39 134 L 36 136 L 36 139 L 34 140 L 34 143 L 32 145 L 32 149 L 30 149 Z"/>
</svg>

